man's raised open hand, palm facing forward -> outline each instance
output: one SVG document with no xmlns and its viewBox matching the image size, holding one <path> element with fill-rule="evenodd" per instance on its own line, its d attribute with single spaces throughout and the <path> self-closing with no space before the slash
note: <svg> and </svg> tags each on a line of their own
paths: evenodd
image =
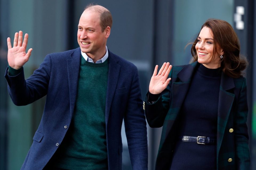
<svg viewBox="0 0 256 170">
<path fill-rule="evenodd" d="M 24 41 L 22 43 L 22 31 L 15 33 L 13 47 L 11 47 L 11 39 L 7 38 L 7 46 L 8 46 L 8 64 L 13 69 L 20 69 L 28 60 L 31 55 L 32 48 L 30 48 L 26 53 L 27 48 L 27 39 L 29 35 L 25 34 Z"/>
</svg>

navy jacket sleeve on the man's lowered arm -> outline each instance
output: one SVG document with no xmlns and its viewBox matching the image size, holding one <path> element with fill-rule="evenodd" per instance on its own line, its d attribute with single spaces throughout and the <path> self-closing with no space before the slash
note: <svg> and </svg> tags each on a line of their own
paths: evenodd
<svg viewBox="0 0 256 170">
<path fill-rule="evenodd" d="M 133 169 L 146 170 L 148 162 L 147 126 L 142 105 L 139 75 L 136 68 L 129 91 L 124 123 L 131 165 Z"/>
</svg>

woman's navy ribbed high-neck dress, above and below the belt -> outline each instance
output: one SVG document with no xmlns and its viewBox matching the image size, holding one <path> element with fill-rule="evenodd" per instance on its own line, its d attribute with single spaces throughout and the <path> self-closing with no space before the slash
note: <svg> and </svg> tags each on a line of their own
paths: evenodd
<svg viewBox="0 0 256 170">
<path fill-rule="evenodd" d="M 220 68 L 198 67 L 179 113 L 177 135 L 217 138 L 220 78 Z M 216 169 L 216 153 L 216 144 L 177 141 L 171 170 Z"/>
</svg>

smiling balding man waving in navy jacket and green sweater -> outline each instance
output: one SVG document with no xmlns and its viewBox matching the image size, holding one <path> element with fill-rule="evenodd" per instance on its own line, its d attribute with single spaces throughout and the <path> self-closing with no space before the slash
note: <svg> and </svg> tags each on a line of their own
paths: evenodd
<svg viewBox="0 0 256 170">
<path fill-rule="evenodd" d="M 79 48 L 48 54 L 27 80 L 28 35 L 7 39 L 8 91 L 16 105 L 47 95 L 21 169 L 122 169 L 122 121 L 133 169 L 147 169 L 147 129 L 137 68 L 106 46 L 112 16 L 89 5 L 78 24 Z"/>
</svg>

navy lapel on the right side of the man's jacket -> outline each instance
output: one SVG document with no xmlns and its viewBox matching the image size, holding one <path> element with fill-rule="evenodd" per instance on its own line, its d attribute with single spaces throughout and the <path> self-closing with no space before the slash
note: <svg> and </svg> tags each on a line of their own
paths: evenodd
<svg viewBox="0 0 256 170">
<path fill-rule="evenodd" d="M 115 94 L 115 89 L 117 87 L 118 77 L 120 73 L 121 66 L 113 53 L 109 52 L 109 73 L 107 78 L 107 94 L 106 94 L 106 126 L 109 119 L 109 113 L 111 108 L 111 103 Z"/>
</svg>

